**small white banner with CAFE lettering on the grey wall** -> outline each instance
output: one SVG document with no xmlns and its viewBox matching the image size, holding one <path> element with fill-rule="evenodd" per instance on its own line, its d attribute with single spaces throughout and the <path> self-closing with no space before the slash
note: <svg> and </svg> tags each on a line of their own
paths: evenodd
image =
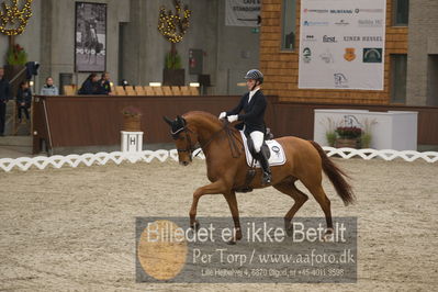
<svg viewBox="0 0 438 292">
<path fill-rule="evenodd" d="M 259 25 L 261 0 L 226 0 L 225 3 L 225 25 Z"/>
</svg>

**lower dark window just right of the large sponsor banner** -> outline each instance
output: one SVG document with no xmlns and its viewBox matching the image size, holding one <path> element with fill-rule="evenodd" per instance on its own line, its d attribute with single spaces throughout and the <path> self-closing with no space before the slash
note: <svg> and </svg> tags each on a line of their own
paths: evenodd
<svg viewBox="0 0 438 292">
<path fill-rule="evenodd" d="M 407 55 L 391 55 L 391 103 L 406 103 Z"/>
</svg>

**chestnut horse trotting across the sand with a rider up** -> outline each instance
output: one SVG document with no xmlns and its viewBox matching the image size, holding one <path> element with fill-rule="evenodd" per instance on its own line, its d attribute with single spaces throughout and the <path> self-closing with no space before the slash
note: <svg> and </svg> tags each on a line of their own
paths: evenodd
<svg viewBox="0 0 438 292">
<path fill-rule="evenodd" d="M 186 113 L 171 121 L 164 117 L 171 127 L 171 135 L 178 149 L 179 162 L 188 166 L 192 161 L 192 154 L 196 144 L 205 155 L 210 184 L 198 188 L 193 193 L 190 209 L 190 226 L 199 227 L 196 209 L 200 198 L 204 194 L 222 193 L 228 203 L 235 226 L 235 240 L 242 238 L 239 212 L 236 200 L 236 189 L 245 186 L 248 165 L 243 150 L 243 141 L 236 128 L 216 116 L 200 111 Z M 346 173 L 340 170 L 315 142 L 287 136 L 277 139 L 284 148 L 287 161 L 282 166 L 272 167 L 271 184 L 261 184 L 261 170 L 250 182 L 251 189 L 272 186 L 280 192 L 291 196 L 295 203 L 284 216 L 284 228 L 292 232 L 291 221 L 308 196 L 295 187 L 300 180 L 312 193 L 324 211 L 327 232 L 333 233 L 330 201 L 323 190 L 323 170 L 334 184 L 336 192 L 344 203 L 355 201 L 351 186 L 345 180 Z M 344 177 L 342 177 L 344 176 Z M 232 240 L 231 244 L 234 244 Z"/>
</svg>

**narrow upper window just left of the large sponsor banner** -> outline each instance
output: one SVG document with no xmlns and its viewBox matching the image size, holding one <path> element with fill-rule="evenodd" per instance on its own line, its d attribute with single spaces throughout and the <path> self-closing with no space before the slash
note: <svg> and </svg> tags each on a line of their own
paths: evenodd
<svg viewBox="0 0 438 292">
<path fill-rule="evenodd" d="M 295 35 L 296 35 L 296 1 L 283 0 L 283 25 L 281 32 L 281 49 L 294 50 L 295 49 Z"/>
</svg>

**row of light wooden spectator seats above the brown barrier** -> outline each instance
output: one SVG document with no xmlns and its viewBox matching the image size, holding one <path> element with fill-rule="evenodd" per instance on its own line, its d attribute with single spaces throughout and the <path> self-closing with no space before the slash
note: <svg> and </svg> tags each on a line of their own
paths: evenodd
<svg viewBox="0 0 438 292">
<path fill-rule="evenodd" d="M 77 87 L 75 85 L 64 86 L 64 96 L 76 96 Z M 115 86 L 111 88 L 114 96 L 199 96 L 198 87 L 178 87 L 178 86 Z"/>
</svg>

